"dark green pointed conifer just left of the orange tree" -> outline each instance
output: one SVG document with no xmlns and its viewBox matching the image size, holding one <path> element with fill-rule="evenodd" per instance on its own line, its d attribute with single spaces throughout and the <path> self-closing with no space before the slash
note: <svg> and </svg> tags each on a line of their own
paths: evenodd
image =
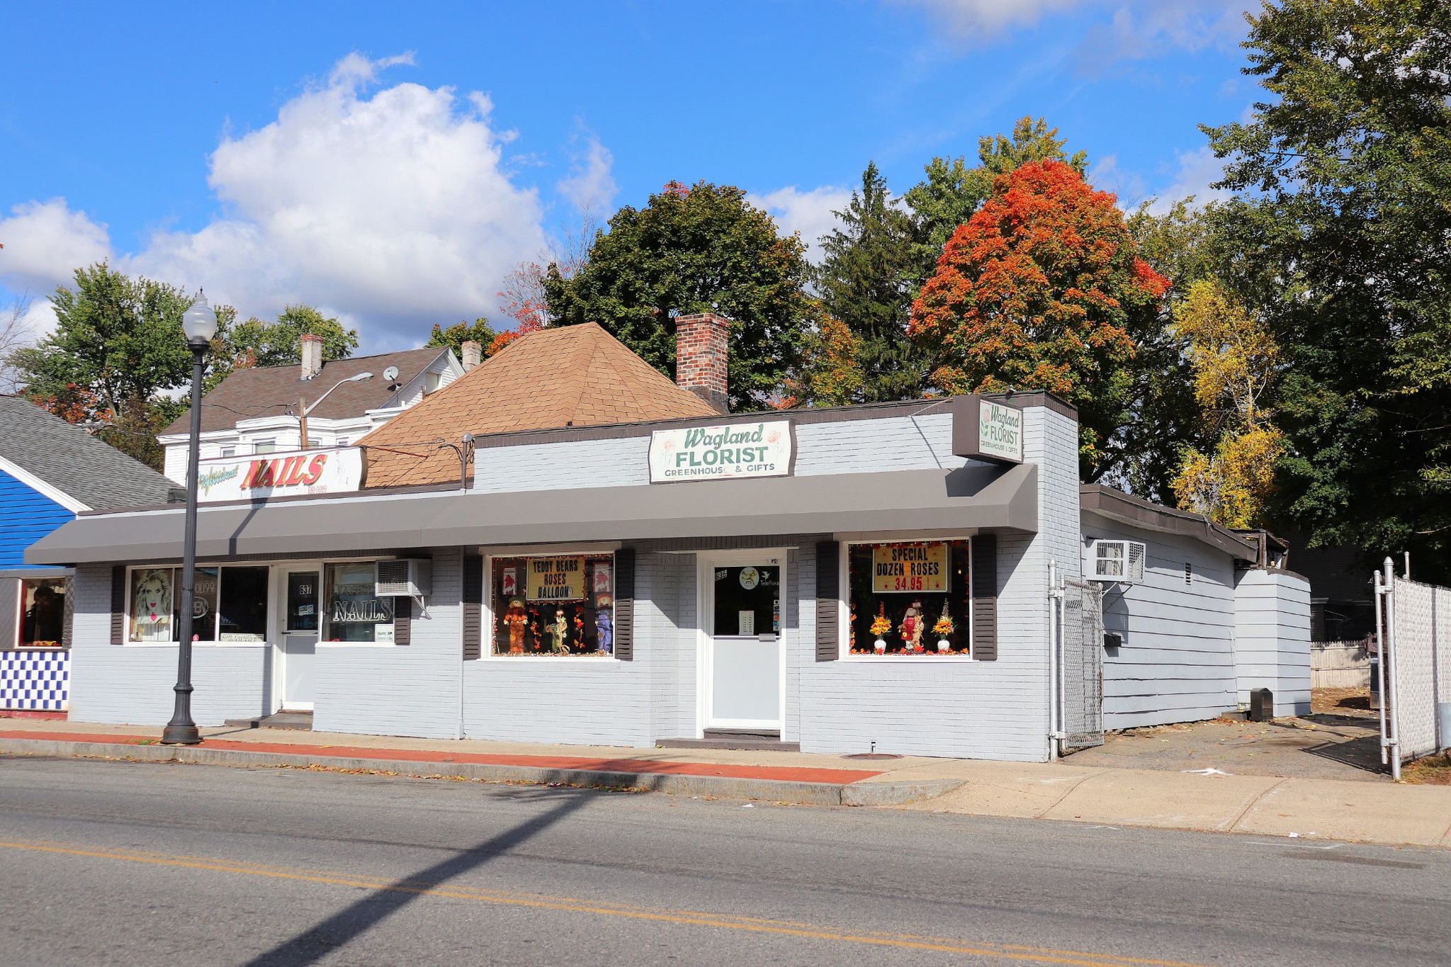
<svg viewBox="0 0 1451 967">
<path fill-rule="evenodd" d="M 856 336 L 858 397 L 842 402 L 921 396 L 927 374 L 907 338 L 916 264 L 911 217 L 892 203 L 875 162 L 862 173 L 860 191 L 833 215 L 840 228 L 821 238 L 824 258 L 813 275 L 827 315 Z M 834 368 L 840 360 L 807 354 L 805 365 Z"/>
</svg>

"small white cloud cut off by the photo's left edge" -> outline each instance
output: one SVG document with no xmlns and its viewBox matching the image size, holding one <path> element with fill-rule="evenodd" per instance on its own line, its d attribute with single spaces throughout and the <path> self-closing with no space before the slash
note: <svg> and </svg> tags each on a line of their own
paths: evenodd
<svg viewBox="0 0 1451 967">
<path fill-rule="evenodd" d="M 81 265 L 110 257 L 106 226 L 65 199 L 25 202 L 0 219 L 0 283 L 17 293 L 42 297 Z"/>
</svg>

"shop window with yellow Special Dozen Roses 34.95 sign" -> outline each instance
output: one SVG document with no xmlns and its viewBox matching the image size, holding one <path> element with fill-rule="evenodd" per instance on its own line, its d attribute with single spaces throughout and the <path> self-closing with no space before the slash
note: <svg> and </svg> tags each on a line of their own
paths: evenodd
<svg viewBox="0 0 1451 967">
<path fill-rule="evenodd" d="M 852 544 L 850 649 L 856 655 L 969 655 L 966 541 Z"/>
</svg>

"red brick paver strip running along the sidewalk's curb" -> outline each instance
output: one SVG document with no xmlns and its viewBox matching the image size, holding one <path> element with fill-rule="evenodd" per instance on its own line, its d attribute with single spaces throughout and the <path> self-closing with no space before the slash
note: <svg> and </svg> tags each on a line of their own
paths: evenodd
<svg viewBox="0 0 1451 967">
<path fill-rule="evenodd" d="M 0 731 L 7 739 L 46 739 L 58 742 L 100 742 L 107 745 L 157 745 L 155 739 L 106 732 L 35 732 Z M 237 742 L 206 739 L 205 748 L 239 752 L 277 752 L 313 758 L 376 758 L 399 763 L 473 763 L 479 765 L 530 765 L 534 768 L 572 768 L 591 773 L 659 773 L 672 776 L 724 776 L 727 779 L 770 779 L 786 783 L 823 783 L 844 786 L 881 776 L 859 768 L 798 768 L 791 765 L 727 765 L 721 763 L 662 763 L 649 758 L 579 758 L 572 755 L 502 755 L 488 752 L 448 752 L 443 750 L 371 748 L 361 745 L 308 745 L 302 742 Z"/>
</svg>

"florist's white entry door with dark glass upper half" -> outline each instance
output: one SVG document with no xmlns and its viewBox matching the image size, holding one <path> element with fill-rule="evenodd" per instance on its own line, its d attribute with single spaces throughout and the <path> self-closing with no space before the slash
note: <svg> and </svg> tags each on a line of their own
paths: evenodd
<svg viewBox="0 0 1451 967">
<path fill-rule="evenodd" d="M 781 732 L 782 558 L 708 561 L 707 728 Z"/>
</svg>

